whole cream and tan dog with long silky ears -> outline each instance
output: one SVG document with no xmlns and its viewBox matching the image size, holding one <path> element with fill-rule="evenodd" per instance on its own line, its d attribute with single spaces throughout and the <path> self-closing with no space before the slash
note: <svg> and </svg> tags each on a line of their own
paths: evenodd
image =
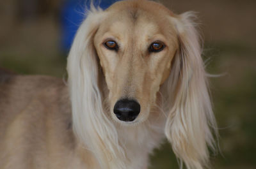
<svg viewBox="0 0 256 169">
<path fill-rule="evenodd" d="M 67 84 L 2 72 L 0 168 L 146 169 L 164 138 L 180 168 L 207 168 L 218 131 L 194 18 L 147 0 L 92 6 Z"/>
</svg>

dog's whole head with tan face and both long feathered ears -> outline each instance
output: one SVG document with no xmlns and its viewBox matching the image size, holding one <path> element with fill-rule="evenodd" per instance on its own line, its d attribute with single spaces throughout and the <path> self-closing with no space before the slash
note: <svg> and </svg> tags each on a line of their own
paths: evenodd
<svg viewBox="0 0 256 169">
<path fill-rule="evenodd" d="M 162 98 L 173 151 L 188 168 L 202 168 L 215 123 L 191 17 L 145 0 L 89 12 L 68 56 L 74 130 L 82 140 L 90 142 L 79 134 L 87 133 L 97 138 L 95 149 L 119 156 L 113 123 L 147 121 Z"/>
</svg>

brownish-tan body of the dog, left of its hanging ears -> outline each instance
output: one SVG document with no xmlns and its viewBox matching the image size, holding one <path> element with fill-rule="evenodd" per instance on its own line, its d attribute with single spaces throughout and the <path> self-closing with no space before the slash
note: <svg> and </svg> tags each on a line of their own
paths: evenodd
<svg viewBox="0 0 256 169">
<path fill-rule="evenodd" d="M 0 71 L 0 168 L 67 165 L 58 154 L 74 148 L 66 88 L 57 78 Z"/>
</svg>

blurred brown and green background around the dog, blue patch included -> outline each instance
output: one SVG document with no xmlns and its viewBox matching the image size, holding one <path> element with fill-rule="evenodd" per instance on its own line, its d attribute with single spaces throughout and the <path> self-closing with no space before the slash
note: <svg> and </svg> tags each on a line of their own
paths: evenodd
<svg viewBox="0 0 256 169">
<path fill-rule="evenodd" d="M 102 0 L 107 8 L 113 1 Z M 256 168 L 256 1 L 162 0 L 175 13 L 198 12 L 211 78 L 221 152 L 212 168 Z M 88 2 L 87 2 L 88 3 Z M 63 77 L 81 20 L 82 0 L 0 1 L 0 68 L 22 75 Z M 179 168 L 165 143 L 150 169 Z"/>
</svg>

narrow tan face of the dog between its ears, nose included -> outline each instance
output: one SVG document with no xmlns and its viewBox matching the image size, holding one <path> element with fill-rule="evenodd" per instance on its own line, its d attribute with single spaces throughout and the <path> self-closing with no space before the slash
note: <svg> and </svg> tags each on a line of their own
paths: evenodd
<svg viewBox="0 0 256 169">
<path fill-rule="evenodd" d="M 172 13 L 163 6 L 150 2 L 138 10 L 122 3 L 108 9 L 94 46 L 108 85 L 111 116 L 119 122 L 142 122 L 170 74 L 177 33 Z"/>
</svg>

